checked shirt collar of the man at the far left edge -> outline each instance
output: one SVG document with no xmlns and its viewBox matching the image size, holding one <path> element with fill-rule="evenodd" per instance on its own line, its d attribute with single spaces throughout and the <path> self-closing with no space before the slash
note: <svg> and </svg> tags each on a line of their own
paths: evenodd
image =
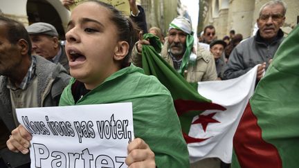
<svg viewBox="0 0 299 168">
<path fill-rule="evenodd" d="M 15 86 L 15 84 L 10 82 L 10 80 L 8 79 L 8 84 L 6 87 L 10 88 L 12 90 L 17 90 L 19 88 L 21 88 L 22 90 L 25 90 L 27 88 L 28 84 L 30 84 L 31 80 L 33 80 L 33 77 L 35 76 L 35 69 L 36 69 L 35 65 L 36 65 L 36 58 L 31 56 L 30 67 L 28 68 L 26 76 L 23 78 L 21 84 L 19 86 Z"/>
</svg>

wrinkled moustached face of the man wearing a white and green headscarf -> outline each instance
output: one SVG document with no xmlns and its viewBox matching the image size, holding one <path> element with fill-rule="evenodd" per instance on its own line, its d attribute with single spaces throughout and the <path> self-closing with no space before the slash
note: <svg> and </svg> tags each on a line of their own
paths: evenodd
<svg viewBox="0 0 299 168">
<path fill-rule="evenodd" d="M 170 53 L 172 53 L 174 57 L 183 57 L 186 48 L 186 39 L 187 33 L 175 28 L 170 29 L 170 31 L 168 32 L 168 43 Z"/>
</svg>

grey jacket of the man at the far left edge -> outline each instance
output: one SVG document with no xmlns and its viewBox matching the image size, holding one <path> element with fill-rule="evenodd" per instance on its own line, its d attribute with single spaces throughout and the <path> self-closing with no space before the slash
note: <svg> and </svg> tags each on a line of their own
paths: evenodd
<svg viewBox="0 0 299 168">
<path fill-rule="evenodd" d="M 53 64 L 40 56 L 36 57 L 35 75 L 38 77 L 38 106 L 57 106 L 64 87 L 69 84 L 71 77 L 60 64 Z M 0 77 L 0 119 L 11 132 L 17 127 L 13 119 L 10 91 L 6 87 L 8 77 Z M 2 135 L 1 135 L 2 136 Z M 18 167 L 30 162 L 29 154 L 14 153 L 7 148 L 1 149 L 0 155 L 10 167 Z"/>
</svg>

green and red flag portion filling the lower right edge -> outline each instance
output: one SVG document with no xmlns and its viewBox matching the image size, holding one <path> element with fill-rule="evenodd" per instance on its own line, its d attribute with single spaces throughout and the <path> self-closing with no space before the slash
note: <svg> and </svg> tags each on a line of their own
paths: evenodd
<svg viewBox="0 0 299 168">
<path fill-rule="evenodd" d="M 232 167 L 299 167 L 299 26 L 258 83 L 233 144 Z"/>
</svg>

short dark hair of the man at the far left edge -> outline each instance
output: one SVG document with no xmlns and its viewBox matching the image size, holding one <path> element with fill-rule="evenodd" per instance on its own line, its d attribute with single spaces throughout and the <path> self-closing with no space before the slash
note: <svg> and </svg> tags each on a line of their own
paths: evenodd
<svg viewBox="0 0 299 168">
<path fill-rule="evenodd" d="M 31 55 L 31 41 L 28 32 L 23 24 L 8 17 L 0 15 L 0 21 L 6 24 L 6 37 L 11 44 L 17 44 L 19 39 L 24 39 L 28 44 L 28 55 Z"/>
</svg>

